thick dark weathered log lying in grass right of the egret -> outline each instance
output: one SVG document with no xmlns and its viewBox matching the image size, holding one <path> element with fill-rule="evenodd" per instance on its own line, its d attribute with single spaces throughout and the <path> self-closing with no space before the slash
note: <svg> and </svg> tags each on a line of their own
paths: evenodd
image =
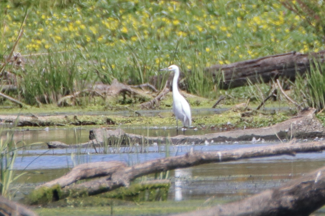
<svg viewBox="0 0 325 216">
<path fill-rule="evenodd" d="M 229 89 L 252 83 L 269 82 L 279 77 L 295 80 L 296 72 L 304 74 L 313 61 L 324 62 L 325 50 L 317 53 L 297 52 L 277 54 L 228 65 L 214 65 L 205 72 L 214 78 L 220 89 Z"/>
</svg>

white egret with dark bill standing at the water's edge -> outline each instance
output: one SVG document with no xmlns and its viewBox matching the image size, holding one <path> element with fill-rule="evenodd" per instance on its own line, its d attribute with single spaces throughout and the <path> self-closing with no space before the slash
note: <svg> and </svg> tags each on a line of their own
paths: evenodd
<svg viewBox="0 0 325 216">
<path fill-rule="evenodd" d="M 173 79 L 173 112 L 176 118 L 176 132 L 178 134 L 178 119 L 181 120 L 184 127 L 191 126 L 191 108 L 189 107 L 188 102 L 178 91 L 178 77 L 179 77 L 179 68 L 176 65 L 171 65 L 162 70 L 174 71 L 174 79 Z M 185 133 L 185 130 L 184 130 Z"/>
</svg>

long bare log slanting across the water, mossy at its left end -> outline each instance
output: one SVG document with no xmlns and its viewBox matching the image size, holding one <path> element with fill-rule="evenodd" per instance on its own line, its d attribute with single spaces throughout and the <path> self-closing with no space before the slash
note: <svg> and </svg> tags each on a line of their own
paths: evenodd
<svg viewBox="0 0 325 216">
<path fill-rule="evenodd" d="M 154 174 L 173 170 L 176 168 L 186 168 L 199 164 L 212 162 L 236 161 L 247 158 L 269 157 L 275 155 L 295 155 L 299 152 L 321 151 L 325 149 L 325 142 L 309 142 L 309 143 L 286 143 L 278 145 L 269 145 L 265 147 L 240 148 L 237 150 L 223 150 L 210 152 L 188 152 L 185 155 L 156 159 L 130 167 L 120 167 L 116 172 L 112 172 L 109 176 L 99 177 L 94 180 L 86 181 L 80 184 L 65 186 L 40 187 L 34 190 L 32 194 L 39 193 L 53 194 L 53 200 L 73 196 L 96 195 L 103 192 L 114 190 L 118 187 L 129 186 L 130 182 L 143 175 Z M 82 165 L 81 165 L 82 167 Z M 53 180 L 52 182 L 56 182 Z M 46 184 L 46 183 L 45 183 Z M 48 188 L 48 189 L 46 189 Z"/>
</svg>

